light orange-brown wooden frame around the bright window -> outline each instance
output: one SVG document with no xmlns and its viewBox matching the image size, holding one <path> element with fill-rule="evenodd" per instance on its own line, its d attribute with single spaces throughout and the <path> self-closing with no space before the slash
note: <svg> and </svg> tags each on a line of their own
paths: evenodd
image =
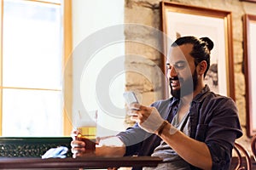
<svg viewBox="0 0 256 170">
<path fill-rule="evenodd" d="M 24 1 L 31 1 L 31 2 L 37 2 L 37 3 L 51 3 L 51 4 L 59 4 L 61 3 L 52 3 L 49 1 L 38 1 L 38 0 L 24 0 Z M 67 59 L 69 58 L 72 49 L 73 49 L 73 36 L 72 36 L 72 0 L 62 0 L 62 31 L 63 31 L 63 44 L 62 44 L 62 72 L 65 69 L 65 65 L 67 63 Z M 3 0 L 0 0 L 0 136 L 3 135 Z M 63 82 L 65 83 L 65 91 L 63 95 L 65 96 L 65 93 L 72 93 L 72 82 L 66 81 L 66 78 L 64 77 Z M 66 99 L 65 99 L 66 100 Z M 68 100 L 71 101 L 71 100 Z M 70 117 L 67 116 L 67 111 L 71 111 L 70 108 L 72 108 L 72 105 L 65 105 L 66 102 L 63 105 L 62 109 L 62 117 L 63 117 L 63 137 L 64 136 L 70 136 L 71 130 L 72 130 L 72 120 L 70 120 Z M 68 104 L 72 104 L 72 102 L 68 102 Z"/>
</svg>

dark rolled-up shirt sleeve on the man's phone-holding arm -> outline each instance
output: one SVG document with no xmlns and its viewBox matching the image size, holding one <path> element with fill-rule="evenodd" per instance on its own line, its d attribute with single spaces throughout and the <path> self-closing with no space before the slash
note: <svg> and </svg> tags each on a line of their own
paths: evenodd
<svg viewBox="0 0 256 170">
<path fill-rule="evenodd" d="M 210 111 L 206 122 L 197 125 L 197 138 L 205 139 L 212 156 L 212 169 L 229 169 L 235 140 L 242 135 L 236 104 L 229 98 L 212 102 L 206 108 Z"/>
</svg>

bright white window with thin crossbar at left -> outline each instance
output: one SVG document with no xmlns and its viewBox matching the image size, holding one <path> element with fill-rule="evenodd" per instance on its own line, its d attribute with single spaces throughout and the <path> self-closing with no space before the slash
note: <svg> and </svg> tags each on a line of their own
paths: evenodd
<svg viewBox="0 0 256 170">
<path fill-rule="evenodd" d="M 63 3 L 2 5 L 2 136 L 62 136 Z"/>
</svg>

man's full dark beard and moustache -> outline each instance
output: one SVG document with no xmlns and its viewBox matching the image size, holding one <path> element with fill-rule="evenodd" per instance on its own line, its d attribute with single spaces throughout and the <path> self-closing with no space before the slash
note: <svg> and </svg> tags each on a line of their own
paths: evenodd
<svg viewBox="0 0 256 170">
<path fill-rule="evenodd" d="M 173 90 L 172 89 L 172 80 L 178 80 L 178 77 L 173 77 L 172 79 L 170 78 L 170 88 L 171 88 L 171 94 L 173 97 L 180 99 L 183 96 L 186 96 L 188 94 L 192 94 L 195 91 L 195 88 L 198 84 L 198 78 L 197 78 L 197 73 L 196 70 L 194 71 L 192 77 L 190 77 L 188 80 L 184 81 L 182 86 L 180 86 L 179 89 Z M 193 87 L 191 86 L 193 83 Z"/>
</svg>

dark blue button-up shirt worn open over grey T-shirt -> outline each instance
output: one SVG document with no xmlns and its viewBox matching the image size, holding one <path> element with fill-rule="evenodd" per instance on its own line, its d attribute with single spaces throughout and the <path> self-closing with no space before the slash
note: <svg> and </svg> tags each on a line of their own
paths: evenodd
<svg viewBox="0 0 256 170">
<path fill-rule="evenodd" d="M 177 114 L 179 99 L 171 98 L 155 102 L 160 115 L 172 122 Z M 234 142 L 242 135 L 235 102 L 210 91 L 208 86 L 192 100 L 190 109 L 190 137 L 207 144 L 212 156 L 212 169 L 228 170 Z M 147 133 L 137 124 L 119 133 L 126 146 L 125 156 L 151 156 L 160 144 L 160 137 Z M 140 168 L 133 168 L 140 169 Z M 191 165 L 191 169 L 199 169 Z"/>
</svg>

